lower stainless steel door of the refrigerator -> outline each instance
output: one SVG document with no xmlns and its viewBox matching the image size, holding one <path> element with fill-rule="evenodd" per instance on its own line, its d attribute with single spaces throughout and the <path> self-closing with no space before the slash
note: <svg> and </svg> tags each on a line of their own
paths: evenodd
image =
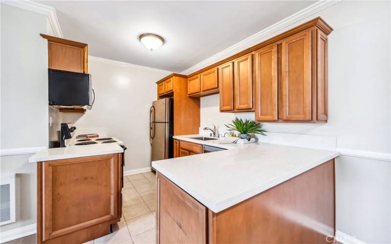
<svg viewBox="0 0 391 244">
<path fill-rule="evenodd" d="M 169 155 L 169 123 L 152 122 L 151 145 L 152 155 L 151 160 L 157 161 L 168 159 Z"/>
</svg>

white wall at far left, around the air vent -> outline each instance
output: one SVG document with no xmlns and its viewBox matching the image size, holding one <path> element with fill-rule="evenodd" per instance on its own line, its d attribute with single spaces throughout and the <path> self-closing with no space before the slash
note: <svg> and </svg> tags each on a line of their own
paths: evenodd
<svg viewBox="0 0 391 244">
<path fill-rule="evenodd" d="M 2 153 L 48 143 L 47 44 L 40 33 L 46 33 L 45 15 L 1 3 Z M 0 158 L 1 173 L 17 173 L 16 222 L 2 225 L 1 234 L 36 223 L 37 165 L 28 163 L 31 155 Z"/>
</svg>

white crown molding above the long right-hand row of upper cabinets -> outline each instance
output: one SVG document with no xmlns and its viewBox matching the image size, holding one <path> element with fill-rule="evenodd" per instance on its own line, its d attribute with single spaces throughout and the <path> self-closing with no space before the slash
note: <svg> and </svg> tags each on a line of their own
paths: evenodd
<svg viewBox="0 0 391 244">
<path fill-rule="evenodd" d="M 289 25 L 292 25 L 298 21 L 304 20 L 305 18 L 314 15 L 315 13 L 326 9 L 332 5 L 334 5 L 337 2 L 340 2 L 341 0 L 321 0 L 318 2 L 315 2 L 314 4 L 304 8 L 303 10 L 297 12 L 296 14 L 293 14 L 263 30 L 260 32 L 244 39 L 243 41 L 239 41 L 238 43 L 224 49 L 223 51 L 213 55 L 212 57 L 201 61 L 194 66 L 180 72 L 181 74 L 190 75 L 204 67 L 207 67 L 211 64 L 214 64 L 218 61 L 224 60 L 230 56 L 235 55 L 236 53 L 239 53 L 240 51 L 243 51 L 247 48 L 250 48 L 258 43 L 261 43 L 262 41 L 265 41 L 268 37 L 271 35 L 276 35 L 278 32 L 281 32 L 284 28 L 288 27 Z"/>
</svg>

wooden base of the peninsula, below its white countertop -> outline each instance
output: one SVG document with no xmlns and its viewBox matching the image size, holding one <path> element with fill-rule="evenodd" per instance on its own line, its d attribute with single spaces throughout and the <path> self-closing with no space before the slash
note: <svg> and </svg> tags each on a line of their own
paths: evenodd
<svg viewBox="0 0 391 244">
<path fill-rule="evenodd" d="M 157 173 L 157 244 L 302 244 L 335 234 L 334 160 L 215 213 Z"/>
</svg>

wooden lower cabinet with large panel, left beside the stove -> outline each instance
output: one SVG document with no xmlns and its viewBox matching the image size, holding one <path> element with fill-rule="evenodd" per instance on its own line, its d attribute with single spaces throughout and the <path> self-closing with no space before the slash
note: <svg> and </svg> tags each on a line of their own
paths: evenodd
<svg viewBox="0 0 391 244">
<path fill-rule="evenodd" d="M 121 154 L 39 162 L 37 243 L 84 243 L 120 221 Z"/>
</svg>

